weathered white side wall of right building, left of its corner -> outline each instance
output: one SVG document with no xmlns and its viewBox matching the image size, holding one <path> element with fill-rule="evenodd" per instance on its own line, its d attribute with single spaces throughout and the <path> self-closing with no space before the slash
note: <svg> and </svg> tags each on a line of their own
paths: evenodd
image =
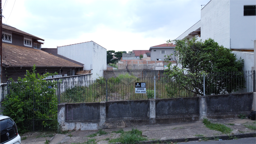
<svg viewBox="0 0 256 144">
<path fill-rule="evenodd" d="M 211 0 L 201 9 L 201 37 L 230 48 L 230 1 Z"/>
</svg>

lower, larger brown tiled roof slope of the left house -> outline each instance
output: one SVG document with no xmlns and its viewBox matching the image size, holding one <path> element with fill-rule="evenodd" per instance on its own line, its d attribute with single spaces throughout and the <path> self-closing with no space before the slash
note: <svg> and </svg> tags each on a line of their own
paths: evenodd
<svg viewBox="0 0 256 144">
<path fill-rule="evenodd" d="M 3 43 L 3 66 L 83 67 L 40 49 Z"/>
</svg>

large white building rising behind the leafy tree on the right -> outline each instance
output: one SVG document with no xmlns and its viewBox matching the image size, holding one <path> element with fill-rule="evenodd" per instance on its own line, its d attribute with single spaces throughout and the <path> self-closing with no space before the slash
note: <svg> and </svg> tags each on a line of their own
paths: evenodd
<svg viewBox="0 0 256 144">
<path fill-rule="evenodd" d="M 244 59 L 243 70 L 254 66 L 256 39 L 255 0 L 211 0 L 201 9 L 201 20 L 177 39 L 212 38 Z"/>
</svg>

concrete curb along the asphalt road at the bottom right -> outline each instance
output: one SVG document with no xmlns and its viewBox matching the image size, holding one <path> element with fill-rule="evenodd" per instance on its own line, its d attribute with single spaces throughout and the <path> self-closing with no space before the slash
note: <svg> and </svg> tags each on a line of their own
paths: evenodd
<svg viewBox="0 0 256 144">
<path fill-rule="evenodd" d="M 222 140 L 229 140 L 231 137 L 236 137 L 236 138 L 251 138 L 251 137 L 255 137 L 256 136 L 256 133 L 243 133 L 243 134 L 238 134 L 238 135 L 231 135 L 231 136 L 228 136 L 228 135 L 222 135 L 220 137 L 218 137 L 219 139 L 222 139 Z M 217 137 L 204 137 L 204 138 L 209 138 L 211 140 L 214 140 L 215 138 Z M 141 144 L 151 144 L 151 143 L 166 143 L 166 142 L 173 142 L 173 143 L 176 143 L 176 142 L 188 142 L 188 141 L 198 141 L 198 139 L 200 139 L 202 137 L 193 137 L 193 138 L 179 138 L 179 139 L 166 139 L 166 140 L 148 140 L 148 141 L 141 141 L 139 143 Z"/>
</svg>

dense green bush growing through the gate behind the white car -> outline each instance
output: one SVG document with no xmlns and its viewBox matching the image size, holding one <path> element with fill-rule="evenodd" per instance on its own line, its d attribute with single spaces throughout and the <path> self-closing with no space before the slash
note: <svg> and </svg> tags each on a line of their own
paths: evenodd
<svg viewBox="0 0 256 144">
<path fill-rule="evenodd" d="M 33 72 L 27 70 L 25 78 L 18 78 L 17 82 L 10 79 L 9 94 L 2 102 L 3 114 L 15 121 L 21 133 L 32 130 L 33 123 L 35 130 L 42 130 L 42 127 L 56 130 L 58 127 L 57 82 L 44 80 L 56 73 L 39 75 L 35 69 L 34 65 Z"/>
</svg>

